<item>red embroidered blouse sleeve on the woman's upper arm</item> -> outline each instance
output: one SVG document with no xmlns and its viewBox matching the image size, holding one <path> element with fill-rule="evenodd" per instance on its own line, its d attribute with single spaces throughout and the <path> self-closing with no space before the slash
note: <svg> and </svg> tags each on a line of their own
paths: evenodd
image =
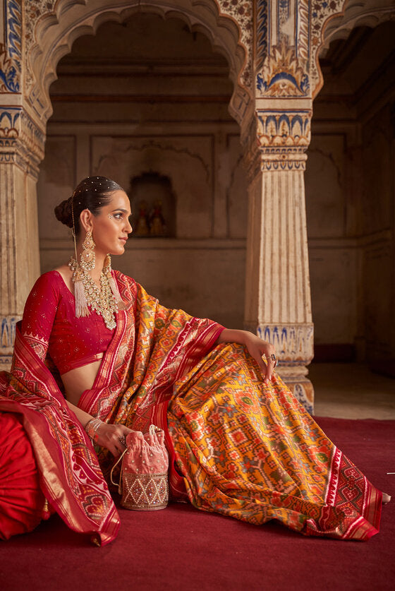
<svg viewBox="0 0 395 591">
<path fill-rule="evenodd" d="M 47 355 L 58 304 L 56 275 L 52 272 L 44 273 L 37 279 L 26 300 L 22 318 L 23 337 L 42 362 Z"/>
</svg>

